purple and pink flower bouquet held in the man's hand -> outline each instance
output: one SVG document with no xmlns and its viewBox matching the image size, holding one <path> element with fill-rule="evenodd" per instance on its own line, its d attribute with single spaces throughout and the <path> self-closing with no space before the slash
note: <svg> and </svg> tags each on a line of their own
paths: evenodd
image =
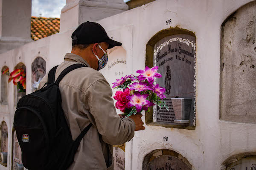
<svg viewBox="0 0 256 170">
<path fill-rule="evenodd" d="M 123 112 L 123 116 L 128 118 L 132 114 L 149 112 L 149 107 L 158 105 L 160 108 L 168 106 L 162 100 L 166 89 L 154 84 L 154 77 L 160 78 L 157 73 L 158 67 L 148 68 L 136 71 L 139 76 L 127 75 L 121 79 L 116 79 L 112 88 L 119 88 L 122 91 L 116 91 L 113 98 L 116 100 L 116 108 Z"/>
</svg>

